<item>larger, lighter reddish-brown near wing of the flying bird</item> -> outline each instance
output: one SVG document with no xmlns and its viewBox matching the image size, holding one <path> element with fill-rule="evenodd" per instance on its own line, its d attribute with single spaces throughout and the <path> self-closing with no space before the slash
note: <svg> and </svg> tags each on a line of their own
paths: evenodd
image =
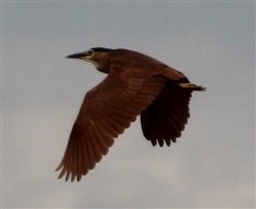
<svg viewBox="0 0 256 209">
<path fill-rule="evenodd" d="M 116 138 L 158 95 L 165 78 L 112 68 L 110 74 L 83 100 L 69 143 L 57 170 L 66 181 L 93 169 Z"/>
</svg>

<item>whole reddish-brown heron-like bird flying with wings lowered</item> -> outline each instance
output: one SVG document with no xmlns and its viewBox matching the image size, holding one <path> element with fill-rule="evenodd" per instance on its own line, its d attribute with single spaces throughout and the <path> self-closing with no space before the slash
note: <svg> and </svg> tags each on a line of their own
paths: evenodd
<svg viewBox="0 0 256 209">
<path fill-rule="evenodd" d="M 129 49 L 91 47 L 68 58 L 91 62 L 107 76 L 86 93 L 70 131 L 56 169 L 66 181 L 79 182 L 139 115 L 144 138 L 170 146 L 190 117 L 192 92 L 205 90 L 175 68 Z"/>
</svg>

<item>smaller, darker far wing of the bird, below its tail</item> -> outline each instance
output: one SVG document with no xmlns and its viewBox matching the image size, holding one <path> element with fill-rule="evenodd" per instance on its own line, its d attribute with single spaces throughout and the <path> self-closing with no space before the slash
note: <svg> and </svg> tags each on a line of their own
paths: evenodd
<svg viewBox="0 0 256 209">
<path fill-rule="evenodd" d="M 179 78 L 188 82 L 187 78 Z M 166 79 L 165 88 L 141 114 L 144 137 L 155 146 L 156 141 L 162 147 L 176 142 L 185 129 L 189 118 L 189 100 L 191 89 L 184 89 L 176 81 Z"/>
</svg>

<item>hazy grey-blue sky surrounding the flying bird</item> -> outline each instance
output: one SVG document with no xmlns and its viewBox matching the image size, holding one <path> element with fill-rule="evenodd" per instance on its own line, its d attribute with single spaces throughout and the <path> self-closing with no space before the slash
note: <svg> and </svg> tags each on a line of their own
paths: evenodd
<svg viewBox="0 0 256 209">
<path fill-rule="evenodd" d="M 3 207 L 254 207 L 255 3 L 2 3 Z M 139 118 L 80 183 L 54 172 L 84 94 L 105 75 L 65 58 L 125 47 L 207 87 L 171 147 Z"/>
</svg>

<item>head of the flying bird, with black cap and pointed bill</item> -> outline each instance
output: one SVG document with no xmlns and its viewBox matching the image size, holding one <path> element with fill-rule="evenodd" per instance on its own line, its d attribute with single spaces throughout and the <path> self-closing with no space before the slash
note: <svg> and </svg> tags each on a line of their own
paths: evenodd
<svg viewBox="0 0 256 209">
<path fill-rule="evenodd" d="M 67 58 L 79 58 L 81 60 L 91 62 L 101 72 L 108 73 L 111 51 L 111 48 L 92 47 L 88 51 L 72 54 L 67 56 Z"/>
</svg>

